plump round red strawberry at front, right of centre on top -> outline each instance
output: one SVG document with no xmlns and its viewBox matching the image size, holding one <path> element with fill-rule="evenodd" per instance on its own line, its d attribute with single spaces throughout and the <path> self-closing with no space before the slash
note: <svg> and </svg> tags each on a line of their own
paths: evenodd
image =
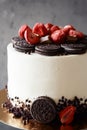
<svg viewBox="0 0 87 130">
<path fill-rule="evenodd" d="M 65 33 L 62 30 L 56 30 L 50 37 L 55 43 L 61 43 L 65 39 Z"/>
</svg>

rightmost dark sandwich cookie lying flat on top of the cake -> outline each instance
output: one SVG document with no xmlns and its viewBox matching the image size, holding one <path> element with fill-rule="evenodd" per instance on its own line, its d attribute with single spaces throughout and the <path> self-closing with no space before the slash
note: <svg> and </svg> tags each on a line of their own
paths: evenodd
<svg viewBox="0 0 87 130">
<path fill-rule="evenodd" d="M 82 43 L 61 44 L 67 54 L 83 54 L 87 50 L 87 45 Z"/>
</svg>

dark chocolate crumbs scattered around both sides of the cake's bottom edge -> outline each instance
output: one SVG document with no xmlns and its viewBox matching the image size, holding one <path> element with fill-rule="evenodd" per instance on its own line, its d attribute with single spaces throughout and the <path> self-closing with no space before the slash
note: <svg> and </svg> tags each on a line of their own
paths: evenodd
<svg viewBox="0 0 87 130">
<path fill-rule="evenodd" d="M 41 97 L 39 97 L 39 99 L 41 99 Z M 25 103 L 20 101 L 20 103 L 22 103 L 21 106 L 18 101 L 19 105 L 13 106 L 11 102 L 12 101 L 14 102 L 15 100 L 17 100 L 17 99 L 12 98 L 12 99 L 6 101 L 5 103 L 3 103 L 3 108 L 6 108 L 9 113 L 13 113 L 13 118 L 21 118 L 23 124 L 26 125 L 29 123 L 29 120 L 33 119 L 31 112 L 30 112 L 30 104 L 26 105 L 26 101 L 27 101 L 27 103 L 29 103 L 28 102 L 29 100 L 26 99 Z M 19 98 L 18 98 L 18 100 L 19 100 Z M 75 112 L 73 123 L 81 122 L 85 118 L 87 118 L 87 98 L 82 98 L 82 97 L 78 98 L 77 96 L 75 96 L 73 99 L 67 99 L 66 97 L 62 96 L 58 100 L 58 103 L 56 104 L 55 109 L 56 109 L 57 113 L 59 113 L 61 110 L 63 110 L 64 108 L 66 108 L 67 106 L 70 106 L 70 105 L 76 107 L 76 112 Z M 47 108 L 47 106 L 46 106 L 46 108 Z M 58 114 L 57 114 L 57 119 L 60 124 Z M 48 122 L 49 122 L 49 120 L 48 120 Z"/>
</svg>

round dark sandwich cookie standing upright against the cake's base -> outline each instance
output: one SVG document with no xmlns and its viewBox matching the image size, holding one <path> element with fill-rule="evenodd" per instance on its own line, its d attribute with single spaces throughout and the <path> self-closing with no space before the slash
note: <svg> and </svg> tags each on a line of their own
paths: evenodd
<svg viewBox="0 0 87 130">
<path fill-rule="evenodd" d="M 55 102 L 46 96 L 38 97 L 31 105 L 30 112 L 36 121 L 50 123 L 57 115 Z"/>
</svg>

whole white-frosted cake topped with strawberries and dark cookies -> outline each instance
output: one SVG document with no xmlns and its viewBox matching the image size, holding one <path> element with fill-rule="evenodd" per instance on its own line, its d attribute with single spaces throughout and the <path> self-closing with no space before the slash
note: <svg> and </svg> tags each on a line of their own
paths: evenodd
<svg viewBox="0 0 87 130">
<path fill-rule="evenodd" d="M 7 46 L 9 111 L 50 123 L 70 124 L 87 115 L 87 36 L 73 26 L 22 25 Z M 18 112 L 14 112 L 17 107 Z M 16 108 L 15 108 L 16 110 Z"/>
</svg>

